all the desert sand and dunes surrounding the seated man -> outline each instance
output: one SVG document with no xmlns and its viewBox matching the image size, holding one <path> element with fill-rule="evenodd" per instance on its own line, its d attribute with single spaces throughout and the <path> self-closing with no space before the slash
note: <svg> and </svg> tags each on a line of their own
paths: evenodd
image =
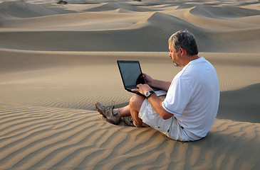
<svg viewBox="0 0 260 170">
<path fill-rule="evenodd" d="M 167 38 L 187 29 L 221 90 L 207 137 L 113 125 L 116 60 L 171 81 Z M 259 1 L 0 1 L 0 169 L 259 169 Z M 113 102 L 112 102 L 113 101 Z"/>
</svg>

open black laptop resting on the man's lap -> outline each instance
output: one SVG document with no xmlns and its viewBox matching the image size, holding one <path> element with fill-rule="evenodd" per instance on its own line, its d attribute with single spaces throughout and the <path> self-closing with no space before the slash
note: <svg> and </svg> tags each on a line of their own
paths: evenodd
<svg viewBox="0 0 260 170">
<path fill-rule="evenodd" d="M 137 88 L 137 84 L 145 84 L 145 78 L 142 75 L 139 61 L 118 60 L 117 62 L 125 90 L 134 94 L 140 94 L 137 91 L 132 91 L 132 89 Z M 157 96 L 167 94 L 167 91 L 164 91 L 162 89 L 157 89 L 155 87 L 151 88 L 153 89 L 153 91 L 155 91 L 155 94 Z"/>
</svg>

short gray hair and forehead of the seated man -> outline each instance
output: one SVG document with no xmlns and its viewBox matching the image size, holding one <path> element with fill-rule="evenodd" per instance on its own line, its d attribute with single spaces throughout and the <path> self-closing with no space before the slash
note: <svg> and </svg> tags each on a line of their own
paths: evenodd
<svg viewBox="0 0 260 170">
<path fill-rule="evenodd" d="M 184 48 L 187 51 L 187 55 L 197 55 L 199 53 L 196 40 L 194 36 L 189 33 L 187 30 L 179 30 L 168 40 L 169 45 L 179 50 L 180 47 Z"/>
</svg>

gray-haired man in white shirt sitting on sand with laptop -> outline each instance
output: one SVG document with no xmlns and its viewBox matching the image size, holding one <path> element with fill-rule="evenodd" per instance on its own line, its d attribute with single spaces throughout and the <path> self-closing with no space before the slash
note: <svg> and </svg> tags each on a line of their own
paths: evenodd
<svg viewBox="0 0 260 170">
<path fill-rule="evenodd" d="M 146 98 L 136 94 L 123 108 L 105 108 L 100 103 L 96 103 L 95 108 L 115 124 L 121 117 L 132 115 L 135 127 L 147 124 L 173 140 L 199 140 L 207 135 L 217 115 L 217 72 L 204 57 L 198 56 L 196 40 L 189 32 L 177 31 L 168 43 L 172 62 L 184 67 L 172 82 L 144 74 L 146 84 L 138 84 L 132 91 Z M 166 97 L 158 97 L 150 86 L 166 90 Z"/>
</svg>

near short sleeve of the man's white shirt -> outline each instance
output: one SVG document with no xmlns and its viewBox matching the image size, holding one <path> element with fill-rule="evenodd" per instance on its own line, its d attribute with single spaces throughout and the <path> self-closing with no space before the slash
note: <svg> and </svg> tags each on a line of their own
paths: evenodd
<svg viewBox="0 0 260 170">
<path fill-rule="evenodd" d="M 186 79 L 182 79 L 182 77 L 173 79 L 165 101 L 162 101 L 162 107 L 169 113 L 182 115 L 191 96 L 192 89 Z"/>
</svg>

